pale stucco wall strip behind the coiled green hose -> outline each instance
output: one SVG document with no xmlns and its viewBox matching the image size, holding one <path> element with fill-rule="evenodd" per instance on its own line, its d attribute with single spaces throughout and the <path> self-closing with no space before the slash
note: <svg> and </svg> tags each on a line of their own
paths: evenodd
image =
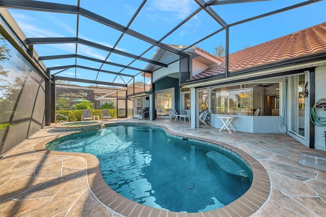
<svg viewBox="0 0 326 217">
<path fill-rule="evenodd" d="M 315 102 L 319 99 L 326 98 L 326 66 L 315 69 Z M 326 117 L 326 111 L 316 111 L 317 116 Z M 315 126 L 315 149 L 325 150 L 325 141 L 322 137 L 326 126 Z"/>
</svg>

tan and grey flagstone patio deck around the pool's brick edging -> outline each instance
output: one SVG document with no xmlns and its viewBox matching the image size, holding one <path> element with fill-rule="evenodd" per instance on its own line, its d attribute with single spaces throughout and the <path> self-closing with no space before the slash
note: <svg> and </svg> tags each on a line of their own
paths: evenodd
<svg viewBox="0 0 326 217">
<path fill-rule="evenodd" d="M 189 122 L 170 119 L 158 119 L 152 124 L 185 136 L 223 142 L 257 159 L 268 171 L 271 193 L 252 216 L 326 216 L 326 172 L 297 164 L 301 153 L 326 158 L 325 151 L 309 149 L 287 134 L 230 134 L 205 125 L 193 129 Z M 89 169 L 97 159 L 35 151 L 41 142 L 69 133 L 45 127 L 1 156 L 0 216 L 123 216 L 107 208 L 91 191 L 87 176 L 94 175 Z M 145 211 L 141 210 L 139 216 Z M 179 215 L 185 213 L 174 216 Z M 151 216 L 161 215 L 152 212 Z"/>
</svg>

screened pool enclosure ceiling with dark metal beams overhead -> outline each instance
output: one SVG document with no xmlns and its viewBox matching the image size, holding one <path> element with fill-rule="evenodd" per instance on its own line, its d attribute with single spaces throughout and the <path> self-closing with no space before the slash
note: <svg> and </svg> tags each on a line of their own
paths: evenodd
<svg viewBox="0 0 326 217">
<path fill-rule="evenodd" d="M 212 53 L 223 45 L 227 56 L 318 24 L 315 16 L 322 19 L 325 4 L 321 0 L 1 0 L 0 7 L 8 9 L 26 37 L 23 43 L 33 45 L 58 80 L 126 87 L 143 81 L 144 72 L 152 73 L 146 70 L 153 68 L 149 64 L 168 67 L 180 57 L 187 58 L 190 47 Z M 314 14 L 306 13 L 312 10 Z M 304 28 L 296 27 L 303 22 Z M 278 31 L 286 25 L 288 32 Z M 158 48 L 171 58 L 154 61 Z"/>
</svg>

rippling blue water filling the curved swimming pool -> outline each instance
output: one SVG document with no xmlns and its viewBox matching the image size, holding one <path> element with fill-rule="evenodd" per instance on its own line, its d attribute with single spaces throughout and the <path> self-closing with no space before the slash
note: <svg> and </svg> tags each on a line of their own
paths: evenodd
<svg viewBox="0 0 326 217">
<path fill-rule="evenodd" d="M 75 133 L 47 148 L 95 155 L 114 191 L 171 211 L 223 207 L 243 195 L 252 182 L 251 170 L 236 156 L 147 126 L 116 125 Z"/>
</svg>

